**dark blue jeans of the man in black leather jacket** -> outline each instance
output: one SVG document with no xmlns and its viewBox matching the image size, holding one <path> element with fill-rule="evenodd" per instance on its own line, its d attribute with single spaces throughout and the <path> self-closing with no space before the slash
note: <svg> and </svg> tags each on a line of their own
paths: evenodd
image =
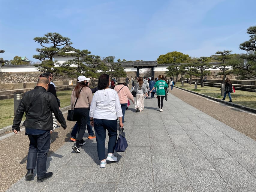
<svg viewBox="0 0 256 192">
<path fill-rule="evenodd" d="M 51 134 L 46 131 L 41 135 L 29 136 L 29 153 L 27 169 L 35 169 L 37 159 L 37 176 L 44 176 L 46 173 L 47 152 L 50 150 Z"/>
</svg>

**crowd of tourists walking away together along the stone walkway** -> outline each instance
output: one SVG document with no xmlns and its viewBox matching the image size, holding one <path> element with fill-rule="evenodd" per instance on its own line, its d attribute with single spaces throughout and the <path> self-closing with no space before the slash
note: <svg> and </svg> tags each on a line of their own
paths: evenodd
<svg viewBox="0 0 256 192">
<path fill-rule="evenodd" d="M 52 73 L 41 74 L 35 89 L 24 94 L 14 117 L 12 130 L 17 134 L 20 131 L 23 114 L 26 114 L 23 126 L 30 141 L 26 180 L 33 177 L 36 165 L 37 182 L 42 182 L 53 175 L 52 172 L 46 173 L 47 152 L 52 143 L 50 135 L 60 127 L 57 125 L 57 120 L 62 128 L 67 127 L 52 79 Z M 148 98 L 149 94 L 153 99 L 156 93 L 158 110 L 162 112 L 163 101 L 168 92 L 168 81 L 163 75 L 155 79 L 145 76 L 132 77 L 130 90 L 128 77 L 119 77 L 116 80 L 110 79 L 107 74 L 102 74 L 95 88 L 89 87 L 89 80 L 90 78 L 83 75 L 78 76 L 76 87 L 71 94 L 71 110 L 74 112 L 76 123 L 70 140 L 75 142 L 72 146 L 74 152 L 80 153 L 80 147 L 86 143 L 83 136 L 87 127 L 88 139 L 96 138 L 100 168 L 105 168 L 107 161 L 117 161 L 113 154 L 117 141 L 117 128 L 118 126 L 123 128 L 125 111 L 130 101 L 135 104 L 136 112 L 142 112 L 144 99 Z M 106 131 L 109 137 L 107 155 L 105 154 Z"/>
</svg>

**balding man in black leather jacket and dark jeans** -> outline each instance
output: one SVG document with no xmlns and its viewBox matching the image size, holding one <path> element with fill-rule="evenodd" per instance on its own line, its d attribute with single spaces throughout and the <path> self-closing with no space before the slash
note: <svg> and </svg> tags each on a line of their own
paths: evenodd
<svg viewBox="0 0 256 192">
<path fill-rule="evenodd" d="M 35 89 L 24 94 L 20 101 L 16 116 L 13 120 L 12 130 L 15 134 L 20 131 L 20 122 L 24 112 L 26 120 L 23 126 L 26 128 L 26 135 L 29 136 L 29 153 L 27 160 L 26 179 L 34 175 L 37 160 L 37 182 L 50 178 L 53 173 L 46 173 L 47 152 L 50 150 L 50 130 L 53 128 L 53 116 L 65 129 L 66 121 L 59 110 L 56 98 L 52 93 L 47 92 L 49 80 L 45 77 L 38 79 Z"/>
</svg>

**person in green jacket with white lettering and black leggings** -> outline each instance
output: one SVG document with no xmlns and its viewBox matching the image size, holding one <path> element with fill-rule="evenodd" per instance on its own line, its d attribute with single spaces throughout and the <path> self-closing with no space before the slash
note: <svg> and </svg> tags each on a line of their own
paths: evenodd
<svg viewBox="0 0 256 192">
<path fill-rule="evenodd" d="M 149 93 L 151 93 L 154 89 L 156 89 L 158 111 L 163 112 L 165 88 L 167 88 L 168 85 L 167 85 L 166 81 L 164 80 L 163 75 L 159 75 L 158 79 L 159 80 L 155 83 L 154 87 L 151 89 L 151 91 Z M 161 103 L 160 103 L 160 100 L 161 100 Z"/>
</svg>

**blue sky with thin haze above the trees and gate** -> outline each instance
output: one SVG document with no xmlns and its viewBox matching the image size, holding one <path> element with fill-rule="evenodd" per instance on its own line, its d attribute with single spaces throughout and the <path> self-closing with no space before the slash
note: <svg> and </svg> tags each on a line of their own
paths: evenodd
<svg viewBox="0 0 256 192">
<path fill-rule="evenodd" d="M 255 0 L 0 0 L 0 7 L 0 58 L 7 60 L 36 61 L 40 45 L 33 38 L 48 32 L 116 60 L 153 61 L 172 51 L 191 57 L 242 53 L 246 29 L 256 25 Z"/>
</svg>

